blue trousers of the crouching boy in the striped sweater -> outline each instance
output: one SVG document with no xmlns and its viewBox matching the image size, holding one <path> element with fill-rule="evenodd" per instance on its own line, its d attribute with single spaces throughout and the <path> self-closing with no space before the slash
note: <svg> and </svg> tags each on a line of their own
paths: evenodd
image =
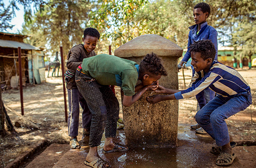
<svg viewBox="0 0 256 168">
<path fill-rule="evenodd" d="M 217 95 L 196 113 L 195 120 L 216 140 L 218 146 L 223 146 L 230 142 L 225 119 L 244 110 L 251 104 L 252 95 L 249 91 L 230 97 Z"/>
</svg>

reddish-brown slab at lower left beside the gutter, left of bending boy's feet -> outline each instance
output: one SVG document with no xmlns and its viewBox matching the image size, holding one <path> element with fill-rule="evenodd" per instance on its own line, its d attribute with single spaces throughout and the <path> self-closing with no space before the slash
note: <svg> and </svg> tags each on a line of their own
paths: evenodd
<svg viewBox="0 0 256 168">
<path fill-rule="evenodd" d="M 52 168 L 69 150 L 69 144 L 51 144 L 25 168 Z"/>
</svg>

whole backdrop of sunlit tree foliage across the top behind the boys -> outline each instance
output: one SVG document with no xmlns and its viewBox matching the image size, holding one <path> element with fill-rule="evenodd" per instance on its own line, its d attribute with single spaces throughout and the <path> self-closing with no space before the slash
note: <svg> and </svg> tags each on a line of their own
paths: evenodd
<svg viewBox="0 0 256 168">
<path fill-rule="evenodd" d="M 2 2 L 2 0 L 0 0 Z M 108 53 L 133 38 L 145 34 L 163 36 L 182 48 L 187 47 L 188 27 L 195 24 L 193 9 L 201 0 L 12 0 L 10 7 L 0 6 L 2 17 L 12 18 L 16 3 L 24 5 L 24 34 L 35 46 L 64 54 L 81 43 L 85 27 L 101 34 L 97 51 Z M 207 0 L 211 13 L 207 23 L 218 31 L 221 44 L 243 47 L 242 55 L 256 53 L 256 1 Z M 0 3 L 1 4 L 1 3 Z M 33 4 L 33 8 L 31 7 Z M 1 20 L 0 20 L 1 21 Z M 8 23 L 8 20 L 7 22 Z M 3 26 L 4 24 L 2 24 Z"/>
</svg>

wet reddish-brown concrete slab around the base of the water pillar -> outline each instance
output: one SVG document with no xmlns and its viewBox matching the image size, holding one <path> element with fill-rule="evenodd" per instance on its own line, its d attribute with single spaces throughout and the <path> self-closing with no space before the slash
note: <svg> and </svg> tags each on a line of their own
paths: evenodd
<svg viewBox="0 0 256 168">
<path fill-rule="evenodd" d="M 209 152 L 215 145 L 209 135 L 195 134 L 195 131 L 190 130 L 189 125 L 179 125 L 178 130 L 178 146 L 175 148 L 142 147 L 130 148 L 126 152 L 103 154 L 104 138 L 102 138 L 98 153 L 102 159 L 110 163 L 112 168 L 219 168 L 215 164 L 218 156 Z M 118 131 L 118 139 L 120 144 L 125 143 L 123 130 Z M 85 142 L 85 146 L 81 149 L 67 152 L 53 168 L 89 168 L 84 165 L 89 151 L 86 143 L 88 142 Z M 242 168 L 244 166 L 236 157 L 233 164 L 226 167 Z"/>
</svg>

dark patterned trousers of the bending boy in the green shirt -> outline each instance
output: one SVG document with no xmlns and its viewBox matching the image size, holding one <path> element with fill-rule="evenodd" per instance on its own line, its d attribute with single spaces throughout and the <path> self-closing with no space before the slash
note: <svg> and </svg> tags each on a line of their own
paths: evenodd
<svg viewBox="0 0 256 168">
<path fill-rule="evenodd" d="M 76 71 L 75 82 L 92 113 L 89 146 L 95 147 L 100 145 L 105 127 L 106 138 L 116 136 L 119 103 L 109 85 L 98 84 L 81 70 Z"/>
</svg>

